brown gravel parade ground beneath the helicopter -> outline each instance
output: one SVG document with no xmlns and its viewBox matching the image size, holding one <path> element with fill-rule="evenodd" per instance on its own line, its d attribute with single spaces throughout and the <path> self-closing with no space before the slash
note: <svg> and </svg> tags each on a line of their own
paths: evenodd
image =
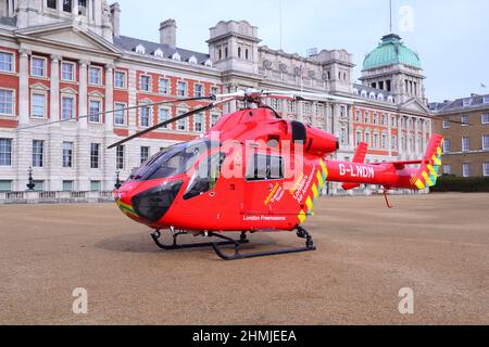
<svg viewBox="0 0 489 347">
<path fill-rule="evenodd" d="M 113 204 L 0 206 L 0 324 L 489 324 L 489 194 L 391 203 L 325 198 L 306 223 L 317 252 L 230 262 L 159 250 Z"/>
</svg>

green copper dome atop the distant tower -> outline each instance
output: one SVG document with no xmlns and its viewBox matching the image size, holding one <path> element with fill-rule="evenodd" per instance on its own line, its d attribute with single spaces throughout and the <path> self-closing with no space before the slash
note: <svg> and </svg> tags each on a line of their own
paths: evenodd
<svg viewBox="0 0 489 347">
<path fill-rule="evenodd" d="M 365 57 L 363 69 L 397 64 L 422 68 L 417 53 L 405 47 L 399 36 L 389 34 L 384 36 L 378 47 Z"/>
</svg>

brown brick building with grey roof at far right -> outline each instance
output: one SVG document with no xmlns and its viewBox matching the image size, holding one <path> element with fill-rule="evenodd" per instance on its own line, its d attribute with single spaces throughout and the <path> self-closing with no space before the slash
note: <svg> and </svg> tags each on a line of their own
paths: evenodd
<svg viewBox="0 0 489 347">
<path fill-rule="evenodd" d="M 432 112 L 447 120 L 436 120 L 436 131 L 443 134 L 443 167 L 446 175 L 459 177 L 489 176 L 489 94 L 442 103 L 431 103 Z"/>
</svg>

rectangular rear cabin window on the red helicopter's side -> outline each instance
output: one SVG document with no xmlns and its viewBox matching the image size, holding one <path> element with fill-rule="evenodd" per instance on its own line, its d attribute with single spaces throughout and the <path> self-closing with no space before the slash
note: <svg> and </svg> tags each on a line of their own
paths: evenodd
<svg viewBox="0 0 489 347">
<path fill-rule="evenodd" d="M 285 177 L 284 172 L 281 156 L 254 154 L 248 166 L 247 181 L 279 180 Z"/>
</svg>

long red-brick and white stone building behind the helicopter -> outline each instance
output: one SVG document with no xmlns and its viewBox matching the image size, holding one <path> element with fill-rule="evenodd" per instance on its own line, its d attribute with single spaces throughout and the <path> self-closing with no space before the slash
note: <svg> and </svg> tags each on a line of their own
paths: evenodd
<svg viewBox="0 0 489 347">
<path fill-rule="evenodd" d="M 208 54 L 177 47 L 174 20 L 160 25 L 160 42 L 123 36 L 117 3 L 0 0 L 0 13 L 7 14 L 0 17 L 0 97 L 5 98 L 0 100 L 0 190 L 25 190 L 30 166 L 43 190 L 112 190 L 117 169 L 124 179 L 147 155 L 198 137 L 223 113 L 243 106 L 230 103 L 154 131 L 120 151 L 105 149 L 117 139 L 203 104 L 84 117 L 97 110 L 183 95 L 256 88 L 362 99 L 267 101 L 285 118 L 337 134 L 341 142 L 337 159 L 351 159 L 360 141 L 371 144 L 368 162 L 418 158 L 431 134 L 424 94 L 399 98 L 396 92 L 372 88 L 371 72 L 364 72 L 363 85 L 353 85 L 354 65 L 346 50 L 289 54 L 260 46 L 258 28 L 248 22 L 229 21 L 210 29 Z M 389 68 L 396 75 L 400 66 L 384 67 Z M 66 116 L 75 120 L 22 130 Z M 42 163 L 38 163 L 40 156 Z M 331 188 L 336 192 L 337 187 Z"/>
</svg>

